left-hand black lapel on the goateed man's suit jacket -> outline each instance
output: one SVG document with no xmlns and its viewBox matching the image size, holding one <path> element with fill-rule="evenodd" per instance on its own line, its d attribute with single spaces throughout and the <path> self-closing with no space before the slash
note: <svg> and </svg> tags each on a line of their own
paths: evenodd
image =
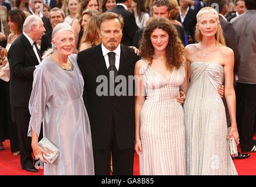
<svg viewBox="0 0 256 187">
<path fill-rule="evenodd" d="M 108 76 L 107 65 L 105 63 L 105 58 L 103 56 L 103 51 L 101 49 L 101 44 L 95 47 L 97 49 L 97 53 L 95 53 L 93 62 L 94 67 L 100 72 L 101 75 Z"/>
</svg>

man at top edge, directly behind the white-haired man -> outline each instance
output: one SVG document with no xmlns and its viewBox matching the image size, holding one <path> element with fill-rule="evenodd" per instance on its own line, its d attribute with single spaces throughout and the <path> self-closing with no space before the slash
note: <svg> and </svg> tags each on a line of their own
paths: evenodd
<svg viewBox="0 0 256 187">
<path fill-rule="evenodd" d="M 29 0 L 29 13 L 31 15 L 37 15 L 43 20 L 43 26 L 48 33 L 52 30 L 50 20 L 43 16 L 43 0 Z"/>
</svg>

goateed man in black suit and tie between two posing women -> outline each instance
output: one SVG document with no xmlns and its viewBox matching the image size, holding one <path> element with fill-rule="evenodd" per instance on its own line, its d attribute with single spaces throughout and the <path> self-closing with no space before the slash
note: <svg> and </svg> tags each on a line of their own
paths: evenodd
<svg viewBox="0 0 256 187">
<path fill-rule="evenodd" d="M 95 175 L 110 175 L 111 153 L 113 175 L 133 174 L 134 86 L 128 79 L 133 77 L 139 57 L 120 44 L 123 25 L 116 13 L 100 15 L 102 43 L 77 56 L 85 82 L 83 98 L 91 124 Z M 122 79 L 118 85 L 117 79 Z"/>
</svg>

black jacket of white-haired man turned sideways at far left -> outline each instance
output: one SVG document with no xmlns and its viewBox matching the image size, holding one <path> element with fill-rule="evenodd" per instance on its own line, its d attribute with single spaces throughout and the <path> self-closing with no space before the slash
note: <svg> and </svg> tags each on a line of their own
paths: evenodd
<svg viewBox="0 0 256 187">
<path fill-rule="evenodd" d="M 24 34 L 13 41 L 8 51 L 8 60 L 11 70 L 11 105 L 28 108 L 33 84 L 33 72 L 35 65 L 39 63 L 29 40 Z"/>
</svg>

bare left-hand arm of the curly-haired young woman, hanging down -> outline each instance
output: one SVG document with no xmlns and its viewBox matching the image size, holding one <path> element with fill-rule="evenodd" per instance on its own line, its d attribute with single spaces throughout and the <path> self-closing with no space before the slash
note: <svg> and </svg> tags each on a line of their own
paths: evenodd
<svg viewBox="0 0 256 187">
<path fill-rule="evenodd" d="M 139 74 L 139 70 L 141 68 L 141 64 L 139 64 L 139 61 L 135 64 L 135 145 L 134 149 L 136 153 L 142 154 L 142 146 L 141 146 L 141 136 L 140 136 L 140 128 L 141 123 L 139 119 L 139 113 L 141 112 L 142 106 L 145 102 L 145 91 L 144 91 L 144 85 L 143 85 L 143 75 Z"/>
</svg>

